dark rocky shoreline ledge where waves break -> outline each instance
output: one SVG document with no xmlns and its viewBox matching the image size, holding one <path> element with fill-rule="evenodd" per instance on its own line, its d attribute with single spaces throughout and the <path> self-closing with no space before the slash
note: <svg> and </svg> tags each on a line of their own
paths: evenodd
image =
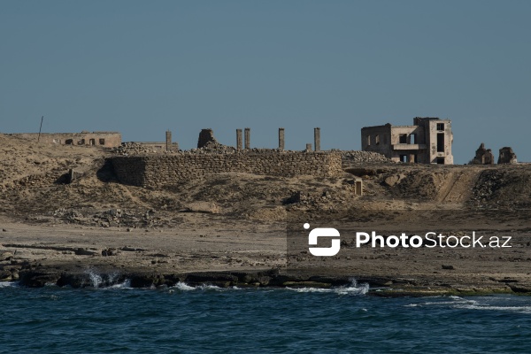
<svg viewBox="0 0 531 354">
<path fill-rule="evenodd" d="M 154 273 L 142 270 L 107 270 L 98 273 L 95 269 L 82 272 L 65 272 L 60 269 L 38 267 L 3 273 L 2 281 L 18 281 L 19 286 L 42 288 L 58 287 L 107 288 L 127 282 L 137 289 L 169 288 L 178 283 L 189 286 L 212 285 L 219 288 L 344 288 L 368 286 L 371 296 L 473 296 L 492 294 L 515 294 L 531 296 L 531 284 L 516 279 L 488 281 L 462 281 L 442 283 L 443 279 L 426 277 L 402 278 L 389 276 L 309 275 L 303 273 L 282 273 L 279 269 L 221 272 Z"/>
</svg>

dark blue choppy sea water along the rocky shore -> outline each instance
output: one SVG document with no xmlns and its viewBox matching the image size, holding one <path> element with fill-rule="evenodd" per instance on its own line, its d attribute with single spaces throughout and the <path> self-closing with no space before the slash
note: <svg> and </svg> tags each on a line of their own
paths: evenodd
<svg viewBox="0 0 531 354">
<path fill-rule="evenodd" d="M 367 287 L 26 289 L 0 283 L 2 353 L 529 353 L 531 297 Z"/>
</svg>

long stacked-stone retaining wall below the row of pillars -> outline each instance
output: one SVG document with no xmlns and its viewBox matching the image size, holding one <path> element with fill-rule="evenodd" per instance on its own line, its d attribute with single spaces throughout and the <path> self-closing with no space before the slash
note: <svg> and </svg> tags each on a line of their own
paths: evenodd
<svg viewBox="0 0 531 354">
<path fill-rule="evenodd" d="M 158 188 L 213 173 L 254 173 L 274 176 L 342 173 L 341 154 L 335 152 L 265 152 L 235 154 L 175 154 L 111 158 L 121 183 Z"/>
</svg>

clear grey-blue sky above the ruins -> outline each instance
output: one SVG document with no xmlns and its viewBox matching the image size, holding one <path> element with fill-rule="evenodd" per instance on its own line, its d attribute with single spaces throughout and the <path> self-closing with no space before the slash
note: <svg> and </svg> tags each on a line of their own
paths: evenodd
<svg viewBox="0 0 531 354">
<path fill-rule="evenodd" d="M 360 129 L 452 120 L 531 161 L 531 1 L 0 1 L 0 132 L 119 131 L 195 147 L 359 150 Z"/>
</svg>

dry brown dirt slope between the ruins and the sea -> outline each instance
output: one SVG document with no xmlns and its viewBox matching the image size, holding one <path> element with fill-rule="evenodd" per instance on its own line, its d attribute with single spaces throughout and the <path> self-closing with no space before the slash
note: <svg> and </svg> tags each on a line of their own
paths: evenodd
<svg viewBox="0 0 531 354">
<path fill-rule="evenodd" d="M 116 153 L 127 150 L 0 134 L 2 280 L 83 286 L 93 273 L 102 273 L 108 281 L 118 279 L 109 274 L 134 277 L 138 286 L 174 281 L 327 286 L 355 277 L 393 294 L 531 292 L 531 227 L 522 214 L 531 204 L 531 165 L 359 164 L 345 158 L 344 173 L 334 178 L 219 173 L 155 190 L 119 184 L 105 160 Z M 70 169 L 74 180 L 67 183 Z M 364 180 L 364 196 L 354 195 L 355 177 Z M 410 226 L 423 224 L 415 215 L 434 211 L 435 228 L 512 235 L 513 247 L 357 249 L 343 239 L 344 254 L 329 272 L 320 267 L 312 273 L 310 267 L 282 275 L 289 271 L 289 215 L 303 212 L 312 219 L 338 212 L 353 218 L 359 211 L 406 211 L 398 222 Z M 453 216 L 437 218 L 439 211 Z M 396 219 L 387 221 L 392 225 Z"/>
</svg>

